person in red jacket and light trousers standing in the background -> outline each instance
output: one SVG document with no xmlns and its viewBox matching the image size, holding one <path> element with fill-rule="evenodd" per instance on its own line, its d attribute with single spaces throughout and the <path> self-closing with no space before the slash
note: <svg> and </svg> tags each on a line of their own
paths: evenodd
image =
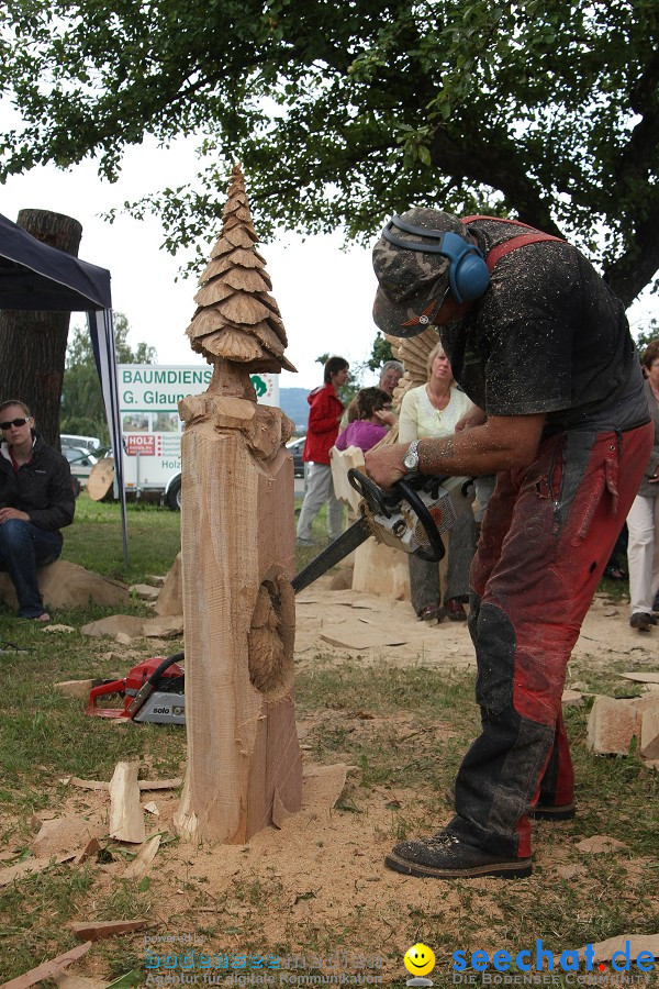
<svg viewBox="0 0 659 989">
<path fill-rule="evenodd" d="M 330 357 L 325 364 L 322 388 L 315 388 L 306 401 L 311 405 L 302 459 L 306 466 L 306 492 L 298 522 L 298 545 L 311 546 L 311 525 L 327 502 L 327 535 L 337 538 L 343 530 L 343 505 L 334 494 L 330 451 L 338 436 L 344 407 L 336 389 L 345 385 L 349 364 L 343 357 Z"/>
</svg>

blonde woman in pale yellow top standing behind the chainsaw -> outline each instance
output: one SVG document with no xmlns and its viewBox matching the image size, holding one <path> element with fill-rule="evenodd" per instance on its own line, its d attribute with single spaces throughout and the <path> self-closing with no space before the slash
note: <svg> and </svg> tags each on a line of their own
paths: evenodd
<svg viewBox="0 0 659 989">
<path fill-rule="evenodd" d="M 448 358 L 438 343 L 428 355 L 428 380 L 412 388 L 403 398 L 399 419 L 399 442 L 446 436 L 455 432 L 460 419 L 472 408 L 465 392 L 456 386 Z M 425 621 L 442 619 L 465 621 L 462 607 L 469 596 L 469 567 L 476 546 L 472 512 L 462 512 L 450 531 L 448 570 L 444 607 L 439 589 L 439 568 L 416 556 L 410 557 L 412 607 Z"/>
</svg>

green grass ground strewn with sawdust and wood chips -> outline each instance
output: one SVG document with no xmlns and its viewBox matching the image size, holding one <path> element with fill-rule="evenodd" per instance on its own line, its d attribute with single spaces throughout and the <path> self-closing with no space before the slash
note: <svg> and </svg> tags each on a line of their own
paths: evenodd
<svg viewBox="0 0 659 989">
<path fill-rule="evenodd" d="M 315 521 L 314 536 L 317 547 L 298 549 L 298 569 L 326 540 L 324 513 Z M 179 547 L 179 516 L 153 505 L 130 505 L 129 540 L 125 568 L 118 508 L 94 504 L 82 496 L 76 523 L 65 534 L 65 557 L 135 582 L 149 573 L 166 573 Z M 601 590 L 617 592 L 619 587 L 604 582 Z M 126 610 L 149 613 L 138 601 Z M 54 619 L 79 630 L 108 612 L 89 605 L 55 613 Z M 148 642 L 135 641 L 130 658 L 122 658 L 107 640 L 77 632 L 45 634 L 34 623 L 16 620 L 8 609 L 0 611 L 0 858 L 4 866 L 27 854 L 34 814 L 53 816 L 60 811 L 68 792 L 62 778 L 109 779 L 116 762 L 136 757 L 148 767 L 143 775 L 179 775 L 186 735 L 163 725 L 110 729 L 53 690 L 53 682 L 60 679 L 124 675 L 138 658 L 153 655 Z M 181 645 L 174 642 L 168 647 L 176 652 Z M 616 679 L 618 671 L 617 667 L 597 675 L 580 670 L 580 677 L 607 693 L 636 692 L 636 685 Z M 311 746 L 312 759 L 356 767 L 336 814 L 364 826 L 375 823 L 389 843 L 427 833 L 428 824 L 440 825 L 449 819 L 455 774 L 479 725 L 470 675 L 425 669 L 423 659 L 405 669 L 386 664 L 366 668 L 359 660 L 337 663 L 319 655 L 313 666 L 299 670 L 295 690 L 298 719 L 309 729 L 304 743 Z M 657 930 L 659 774 L 634 753 L 594 757 L 585 747 L 588 707 L 568 708 L 566 720 L 573 743 L 579 814 L 561 825 L 537 825 L 538 857 L 532 880 L 457 884 L 450 888 L 450 905 L 443 886 L 424 884 L 420 894 L 416 886 L 410 886 L 409 904 L 402 909 L 394 904 L 395 931 L 403 932 L 410 944 L 423 941 L 433 946 L 438 963 L 432 975 L 436 987 L 451 985 L 447 973 L 451 953 L 460 945 L 514 953 L 522 943 L 533 944 L 540 936 L 546 947 L 560 952 L 621 933 Z M 384 811 L 376 822 L 370 809 L 375 793 L 386 794 Z M 588 856 L 576 847 L 582 837 L 602 833 L 623 842 L 624 849 Z M 165 840 L 175 845 L 171 835 Z M 109 852 L 125 854 L 112 845 Z M 561 879 L 556 875 L 557 862 L 578 866 L 582 873 L 574 880 Z M 152 874 L 137 886 L 103 882 L 102 865 L 94 860 L 55 865 L 15 881 L 0 888 L 0 981 L 72 947 L 69 919 L 90 914 L 158 919 L 159 890 L 172 884 L 182 890 L 181 903 L 191 904 L 192 911 L 186 913 L 181 905 L 181 913 L 171 919 L 172 931 L 179 918 L 194 916 L 197 929 L 203 927 L 217 945 L 231 937 L 254 952 L 287 955 L 293 949 L 350 949 L 361 946 L 367 932 L 375 930 L 375 941 L 365 949 L 389 954 L 394 978 L 402 978 L 400 954 L 387 948 L 393 908 L 384 901 L 372 909 L 356 904 L 334 926 L 330 922 L 323 926 L 313 913 L 300 922 L 291 915 L 286 943 L 265 943 L 264 910 L 286 913 L 292 909 L 277 864 L 272 866 L 277 871 L 271 879 L 236 876 L 216 900 L 202 879 L 185 870 L 176 874 L 167 864 L 161 875 Z M 376 899 L 377 892 L 373 886 Z M 313 894 L 301 887 L 301 896 Z M 196 914 L 193 909 L 203 912 Z M 379 926 L 373 926 L 373 916 L 379 918 Z M 181 930 L 188 930 L 186 921 L 180 923 Z M 90 966 L 86 974 L 109 981 L 143 969 L 144 945 L 137 936 L 101 942 L 86 964 Z"/>
</svg>

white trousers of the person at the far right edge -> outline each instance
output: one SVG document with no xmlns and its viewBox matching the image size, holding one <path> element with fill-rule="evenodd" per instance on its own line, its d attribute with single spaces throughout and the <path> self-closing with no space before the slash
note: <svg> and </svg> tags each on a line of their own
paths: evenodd
<svg viewBox="0 0 659 989">
<path fill-rule="evenodd" d="M 652 613 L 659 590 L 659 491 L 657 498 L 637 494 L 627 515 L 629 543 L 629 611 Z"/>
</svg>

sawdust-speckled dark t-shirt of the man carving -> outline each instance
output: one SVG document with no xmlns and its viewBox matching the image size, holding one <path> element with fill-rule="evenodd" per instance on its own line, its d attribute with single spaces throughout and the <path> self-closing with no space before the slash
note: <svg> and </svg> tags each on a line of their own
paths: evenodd
<svg viewBox="0 0 659 989">
<path fill-rule="evenodd" d="M 529 232 L 489 220 L 468 229 L 485 255 Z M 546 412 L 547 433 L 648 421 L 623 303 L 570 244 L 504 255 L 482 299 L 440 335 L 454 377 L 490 415 Z"/>
</svg>

